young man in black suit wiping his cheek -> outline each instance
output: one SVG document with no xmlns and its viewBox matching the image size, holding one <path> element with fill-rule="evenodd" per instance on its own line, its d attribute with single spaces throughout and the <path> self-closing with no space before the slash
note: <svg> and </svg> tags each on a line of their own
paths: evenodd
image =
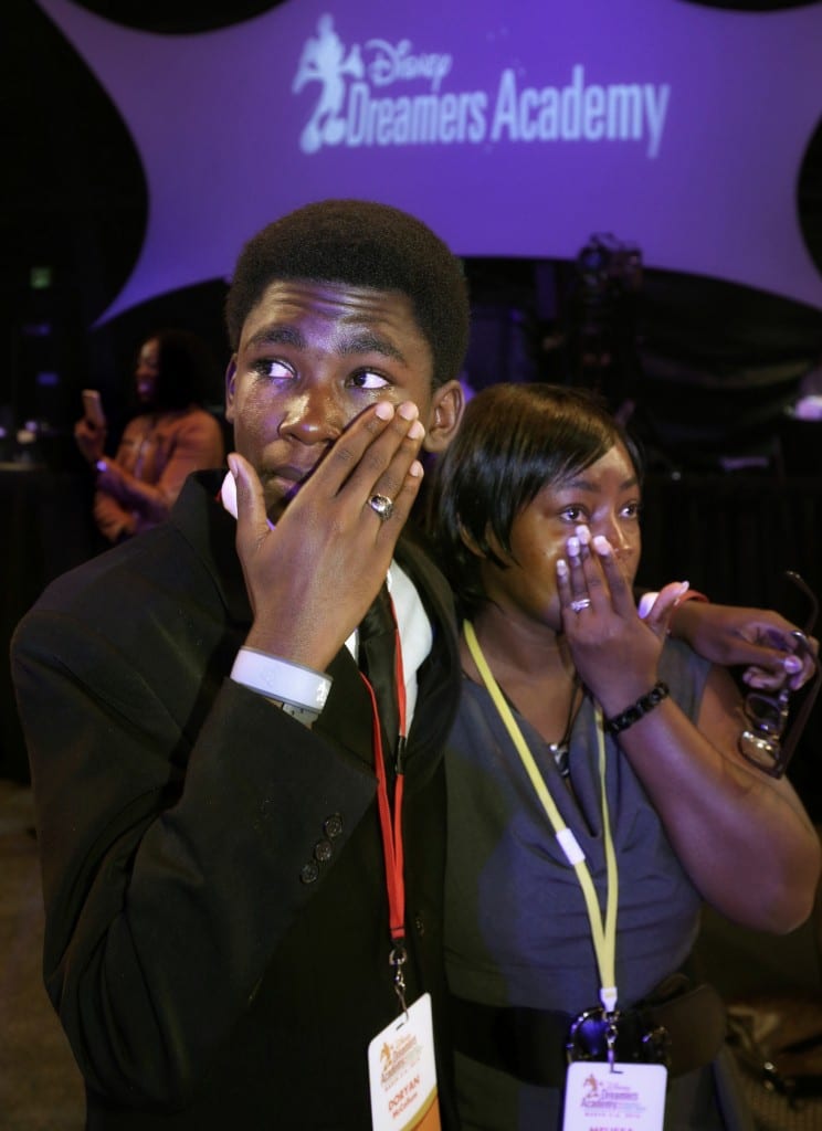
<svg viewBox="0 0 822 1131">
<path fill-rule="evenodd" d="M 369 1042 L 400 1015 L 372 706 L 345 647 L 389 568 L 400 973 L 408 1005 L 429 991 L 439 1021 L 443 998 L 459 665 L 448 588 L 400 533 L 421 449 L 459 421 L 468 299 L 425 225 L 326 201 L 244 249 L 227 321 L 239 523 L 231 483 L 192 478 L 167 524 L 60 579 L 17 633 L 45 976 L 89 1128 L 349 1131 L 371 1122 Z"/>
</svg>

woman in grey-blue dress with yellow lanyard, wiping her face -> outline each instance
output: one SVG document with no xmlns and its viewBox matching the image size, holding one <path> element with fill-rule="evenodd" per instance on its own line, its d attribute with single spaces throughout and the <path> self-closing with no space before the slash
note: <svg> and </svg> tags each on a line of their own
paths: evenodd
<svg viewBox="0 0 822 1131">
<path fill-rule="evenodd" d="M 445 760 L 464 1126 L 556 1131 L 563 1097 L 582 1104 L 566 1043 L 602 1061 L 609 1035 L 617 1062 L 669 1056 L 666 1131 L 749 1126 L 721 1001 L 683 967 L 703 900 L 759 930 L 802 923 L 820 845 L 791 786 L 738 753 L 730 675 L 667 636 L 686 582 L 638 615 L 634 446 L 585 390 L 493 386 L 431 503 L 465 618 Z"/>
</svg>

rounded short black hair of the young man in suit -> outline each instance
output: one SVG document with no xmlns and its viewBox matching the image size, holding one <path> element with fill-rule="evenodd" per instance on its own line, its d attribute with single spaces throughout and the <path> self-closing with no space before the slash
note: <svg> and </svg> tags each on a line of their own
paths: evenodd
<svg viewBox="0 0 822 1131">
<path fill-rule="evenodd" d="M 320 200 L 263 227 L 240 253 L 225 304 L 232 349 L 277 279 L 397 291 L 431 347 L 438 388 L 458 377 L 468 348 L 468 287 L 460 260 L 427 225 L 373 200 Z"/>
</svg>

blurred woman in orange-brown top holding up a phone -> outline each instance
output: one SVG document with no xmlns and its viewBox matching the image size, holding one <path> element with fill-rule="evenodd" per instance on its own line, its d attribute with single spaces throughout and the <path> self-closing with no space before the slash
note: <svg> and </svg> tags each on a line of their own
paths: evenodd
<svg viewBox="0 0 822 1131">
<path fill-rule="evenodd" d="M 88 417 L 75 425 L 80 451 L 97 469 L 94 519 L 107 542 L 162 523 L 191 472 L 223 465 L 220 425 L 202 407 L 215 365 L 196 335 L 161 330 L 140 347 L 135 371 L 140 409 L 115 456 L 104 455 L 104 428 Z"/>
</svg>

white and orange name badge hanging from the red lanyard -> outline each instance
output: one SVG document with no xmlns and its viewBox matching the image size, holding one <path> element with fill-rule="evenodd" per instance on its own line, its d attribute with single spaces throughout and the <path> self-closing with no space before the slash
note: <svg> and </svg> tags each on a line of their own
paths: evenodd
<svg viewBox="0 0 822 1131">
<path fill-rule="evenodd" d="M 431 994 L 369 1045 L 373 1131 L 440 1131 Z"/>
</svg>

